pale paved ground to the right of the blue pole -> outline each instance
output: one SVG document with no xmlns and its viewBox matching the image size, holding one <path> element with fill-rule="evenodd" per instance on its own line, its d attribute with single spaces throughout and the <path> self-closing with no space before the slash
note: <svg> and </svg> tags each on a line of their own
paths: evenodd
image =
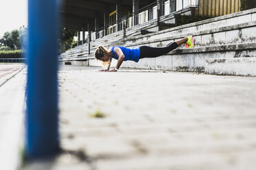
<svg viewBox="0 0 256 170">
<path fill-rule="evenodd" d="M 61 66 L 63 153 L 24 169 L 255 169 L 256 77 L 98 69 Z"/>
</svg>

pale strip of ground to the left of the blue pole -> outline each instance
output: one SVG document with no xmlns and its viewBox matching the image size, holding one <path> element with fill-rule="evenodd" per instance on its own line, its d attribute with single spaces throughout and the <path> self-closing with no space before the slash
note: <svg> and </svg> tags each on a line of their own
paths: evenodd
<svg viewBox="0 0 256 170">
<path fill-rule="evenodd" d="M 17 169 L 23 148 L 24 64 L 0 64 L 0 169 Z"/>
</svg>

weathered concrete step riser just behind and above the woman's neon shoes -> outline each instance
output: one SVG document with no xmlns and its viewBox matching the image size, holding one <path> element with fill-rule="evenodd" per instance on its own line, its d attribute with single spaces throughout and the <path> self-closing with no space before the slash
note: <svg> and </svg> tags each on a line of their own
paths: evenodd
<svg viewBox="0 0 256 170">
<path fill-rule="evenodd" d="M 200 32 L 192 32 L 187 34 L 157 34 L 155 38 L 145 36 L 138 39 L 128 39 L 125 41 L 126 47 L 136 45 L 150 45 L 152 47 L 162 47 L 171 41 L 184 38 L 189 35 L 194 36 L 195 47 L 204 47 L 209 45 L 229 45 L 242 42 L 255 42 L 256 40 L 256 21 L 234 24 L 226 27 L 217 27 Z"/>
</svg>

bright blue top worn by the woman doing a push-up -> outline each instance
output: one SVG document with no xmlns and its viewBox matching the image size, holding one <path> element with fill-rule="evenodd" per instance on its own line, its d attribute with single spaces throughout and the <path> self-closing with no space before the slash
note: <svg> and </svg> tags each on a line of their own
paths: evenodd
<svg viewBox="0 0 256 170">
<path fill-rule="evenodd" d="M 114 48 L 119 47 L 122 50 L 122 53 L 125 55 L 125 61 L 132 60 L 134 62 L 138 62 L 140 60 L 140 47 L 132 47 L 126 48 L 122 46 L 114 46 L 111 48 L 111 53 L 113 53 L 114 59 L 118 60 L 118 56 L 116 55 Z"/>
</svg>

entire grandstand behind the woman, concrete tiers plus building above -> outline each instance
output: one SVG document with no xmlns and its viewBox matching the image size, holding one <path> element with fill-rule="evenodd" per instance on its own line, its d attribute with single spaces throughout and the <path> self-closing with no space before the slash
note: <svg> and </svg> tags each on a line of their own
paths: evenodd
<svg viewBox="0 0 256 170">
<path fill-rule="evenodd" d="M 103 3 L 103 1 L 96 2 Z M 104 3 L 110 4 L 111 1 L 104 1 Z M 128 11 L 128 15 L 125 15 L 124 12 L 121 12 L 125 10 L 120 10 L 120 6 L 122 7 L 124 4 L 125 8 L 129 9 L 129 7 L 127 8 L 129 3 L 131 3 L 133 10 Z M 140 3 L 145 5 L 142 6 Z M 85 40 L 84 33 L 86 29 L 82 28 L 83 40 L 80 40 L 80 36 L 78 36 L 78 46 L 62 53 L 59 58 L 61 63 L 101 66 L 101 63 L 94 59 L 94 50 L 98 45 L 105 47 L 114 45 L 162 47 L 170 41 L 193 34 L 196 45 L 194 49 L 180 47 L 166 56 L 156 59 L 146 58 L 140 60 L 139 63 L 125 62 L 122 66 L 137 69 L 198 71 L 221 75 L 256 75 L 255 69 L 253 69 L 255 68 L 256 57 L 256 10 L 255 8 L 246 10 L 244 1 L 171 0 L 146 2 L 134 0 L 120 1 L 114 6 L 116 10 L 109 13 L 108 20 L 106 10 L 101 12 L 104 14 L 102 21 L 99 14 L 96 14 L 94 32 L 90 32 L 92 23 L 89 21 L 92 20 L 88 21 L 87 31 L 89 30 L 89 34 L 87 39 Z M 65 6 L 65 8 L 70 7 Z M 116 16 L 111 19 L 114 14 Z M 106 24 L 107 21 L 109 24 Z M 98 28 L 100 22 L 103 27 Z M 63 23 L 65 27 L 67 21 Z M 78 30 L 80 32 L 81 29 Z M 238 67 L 237 63 L 239 63 Z M 114 66 L 116 62 L 112 62 L 112 64 Z"/>
</svg>

